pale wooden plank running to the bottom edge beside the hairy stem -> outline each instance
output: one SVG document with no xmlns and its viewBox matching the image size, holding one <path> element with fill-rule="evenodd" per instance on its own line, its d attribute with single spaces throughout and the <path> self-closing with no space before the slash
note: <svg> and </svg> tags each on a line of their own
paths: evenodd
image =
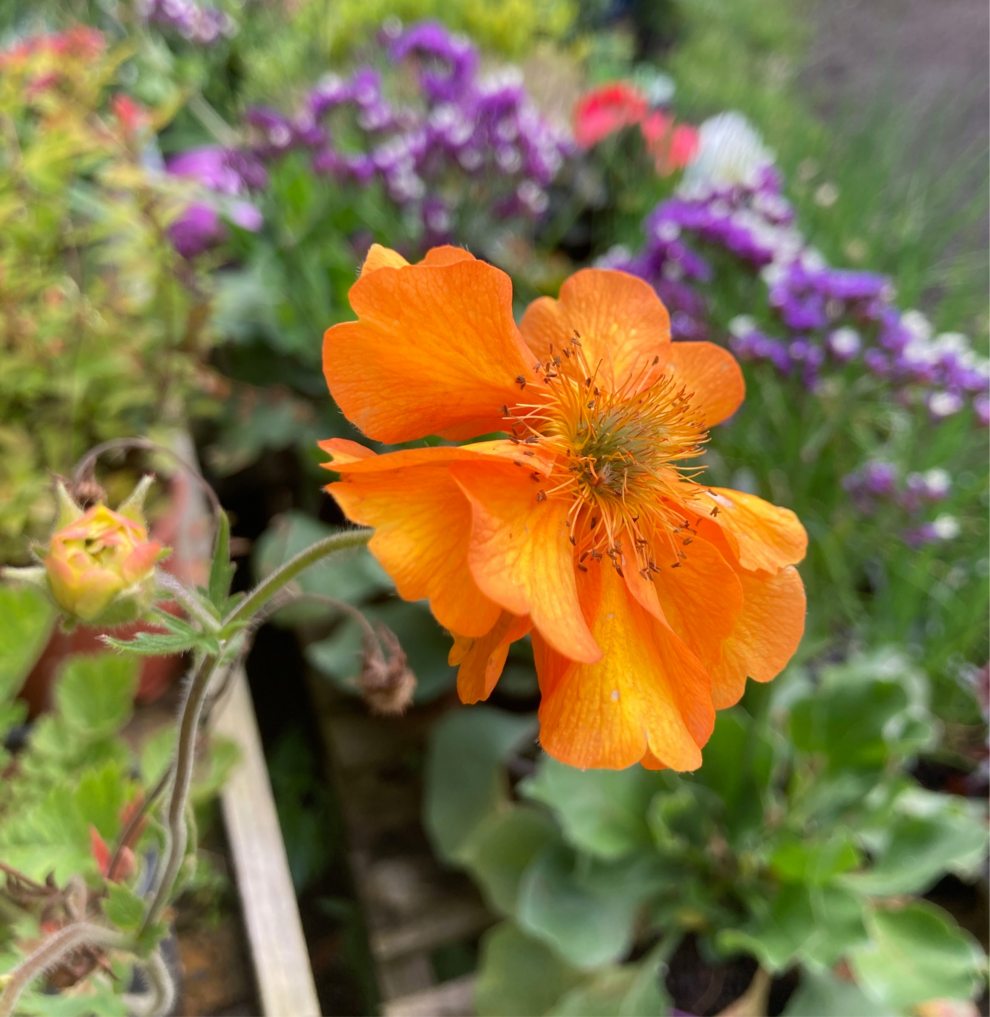
<svg viewBox="0 0 990 1017">
<path fill-rule="evenodd" d="M 234 676 L 214 730 L 241 761 L 221 795 L 264 1017 L 321 1017 L 289 860 L 247 678 Z"/>
</svg>

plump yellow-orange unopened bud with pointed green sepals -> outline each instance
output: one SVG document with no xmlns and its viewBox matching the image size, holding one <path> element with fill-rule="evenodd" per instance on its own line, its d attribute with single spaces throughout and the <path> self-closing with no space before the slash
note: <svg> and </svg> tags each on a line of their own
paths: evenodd
<svg viewBox="0 0 990 1017">
<path fill-rule="evenodd" d="M 59 527 L 45 572 L 55 602 L 79 621 L 119 624 L 151 606 L 155 565 L 169 553 L 148 539 L 141 516 L 151 481 L 141 481 L 117 512 L 97 504 L 83 513 L 59 487 Z"/>
</svg>

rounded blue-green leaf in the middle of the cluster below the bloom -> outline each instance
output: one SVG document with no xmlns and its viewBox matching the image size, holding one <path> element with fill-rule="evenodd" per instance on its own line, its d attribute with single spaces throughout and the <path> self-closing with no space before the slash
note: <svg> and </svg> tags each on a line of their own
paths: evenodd
<svg viewBox="0 0 990 1017">
<path fill-rule="evenodd" d="M 523 875 L 517 920 L 573 967 L 610 964 L 632 945 L 637 915 L 653 891 L 654 863 L 649 856 L 604 862 L 546 847 Z"/>
</svg>

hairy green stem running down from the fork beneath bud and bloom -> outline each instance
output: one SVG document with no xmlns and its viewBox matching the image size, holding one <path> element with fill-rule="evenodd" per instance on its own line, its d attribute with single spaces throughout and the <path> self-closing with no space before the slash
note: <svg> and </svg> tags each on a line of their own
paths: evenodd
<svg viewBox="0 0 990 1017">
<path fill-rule="evenodd" d="M 202 703 L 213 676 L 220 666 L 218 657 L 206 657 L 196 669 L 185 700 L 179 712 L 179 742 L 175 751 L 175 765 L 172 768 L 172 796 L 169 799 L 166 826 L 169 843 L 162 874 L 155 884 L 151 906 L 144 917 L 143 930 L 150 929 L 162 916 L 175 880 L 185 857 L 188 828 L 185 822 L 185 804 L 189 797 L 189 786 L 192 783 L 192 770 L 196 756 L 196 733 L 199 728 L 199 716 L 202 713 Z M 143 931 L 142 930 L 142 931 Z M 0 1014 L 0 1017 L 3 1017 Z"/>
</svg>

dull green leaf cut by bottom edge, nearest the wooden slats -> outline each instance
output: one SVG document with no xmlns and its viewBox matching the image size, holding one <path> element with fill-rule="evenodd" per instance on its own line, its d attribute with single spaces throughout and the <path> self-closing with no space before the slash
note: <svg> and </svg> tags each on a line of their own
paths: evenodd
<svg viewBox="0 0 990 1017">
<path fill-rule="evenodd" d="M 581 974 L 511 921 L 481 941 L 477 1017 L 543 1017 Z"/>
</svg>

